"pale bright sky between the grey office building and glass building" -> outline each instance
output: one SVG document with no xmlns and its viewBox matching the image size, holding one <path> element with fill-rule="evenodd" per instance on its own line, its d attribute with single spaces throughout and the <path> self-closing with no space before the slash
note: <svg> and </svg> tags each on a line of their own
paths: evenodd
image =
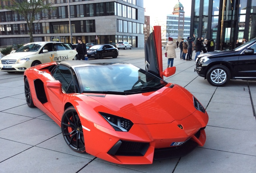
<svg viewBox="0 0 256 173">
<path fill-rule="evenodd" d="M 144 0 L 145 16 L 150 16 L 151 25 L 161 24 L 162 20 L 166 23 L 167 14 L 172 14 L 178 0 Z M 184 6 L 185 16 L 191 15 L 191 0 L 180 0 Z"/>
</svg>

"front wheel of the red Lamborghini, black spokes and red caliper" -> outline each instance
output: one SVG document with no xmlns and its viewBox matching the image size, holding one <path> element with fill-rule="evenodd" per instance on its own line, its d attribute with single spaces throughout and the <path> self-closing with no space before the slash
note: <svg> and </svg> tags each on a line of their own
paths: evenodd
<svg viewBox="0 0 256 173">
<path fill-rule="evenodd" d="M 68 146 L 78 152 L 85 152 L 83 127 L 73 106 L 68 107 L 62 115 L 61 131 Z"/>
</svg>

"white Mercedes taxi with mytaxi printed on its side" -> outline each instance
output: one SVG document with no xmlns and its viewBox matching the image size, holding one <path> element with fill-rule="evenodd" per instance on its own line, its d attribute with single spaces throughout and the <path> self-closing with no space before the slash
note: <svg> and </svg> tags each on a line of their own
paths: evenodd
<svg viewBox="0 0 256 173">
<path fill-rule="evenodd" d="M 27 68 L 46 62 L 74 60 L 72 44 L 62 42 L 31 42 L 1 59 L 0 71 L 24 72 Z"/>
</svg>

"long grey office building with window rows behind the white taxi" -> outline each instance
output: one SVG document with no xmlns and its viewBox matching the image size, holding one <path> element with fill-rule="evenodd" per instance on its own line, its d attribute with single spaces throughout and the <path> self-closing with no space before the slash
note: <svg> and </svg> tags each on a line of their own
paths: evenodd
<svg viewBox="0 0 256 173">
<path fill-rule="evenodd" d="M 25 18 L 4 9 L 10 5 L 9 1 L 0 3 L 0 46 L 29 42 Z M 83 42 L 115 46 L 119 41 L 127 41 L 133 47 L 144 47 L 143 0 L 46 0 L 45 3 L 51 3 L 52 9 L 35 15 L 34 41 L 74 44 L 77 38 L 82 38 Z"/>
</svg>

